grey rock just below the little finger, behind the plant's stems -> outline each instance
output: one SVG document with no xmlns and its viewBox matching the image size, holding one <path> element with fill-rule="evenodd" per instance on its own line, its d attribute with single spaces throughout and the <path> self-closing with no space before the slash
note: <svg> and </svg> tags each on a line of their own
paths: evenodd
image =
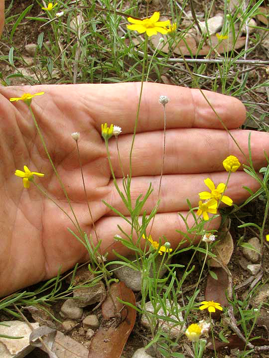
<svg viewBox="0 0 269 358">
<path fill-rule="evenodd" d="M 135 256 L 129 257 L 130 261 L 135 261 Z M 162 256 L 158 255 L 155 258 L 155 270 L 159 270 L 159 278 L 161 278 L 165 272 L 167 271 L 167 268 L 162 265 L 160 269 L 160 264 L 162 261 Z M 169 263 L 169 262 L 168 262 Z M 142 282 L 142 272 L 136 271 L 131 267 L 123 266 L 121 264 L 112 264 L 110 265 L 110 268 L 113 271 L 114 275 L 120 280 L 123 281 L 127 287 L 131 288 L 133 291 L 140 291 L 141 290 L 141 282 Z M 152 268 L 150 268 L 149 276 L 152 277 Z"/>
</svg>

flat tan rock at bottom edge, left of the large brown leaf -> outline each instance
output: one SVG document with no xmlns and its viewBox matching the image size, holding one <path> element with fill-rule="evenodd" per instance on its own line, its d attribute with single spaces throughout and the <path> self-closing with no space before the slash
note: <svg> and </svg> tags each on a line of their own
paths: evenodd
<svg viewBox="0 0 269 358">
<path fill-rule="evenodd" d="M 84 345 L 61 332 L 57 332 L 52 351 L 57 358 L 88 358 L 89 356 L 89 350 Z"/>
</svg>

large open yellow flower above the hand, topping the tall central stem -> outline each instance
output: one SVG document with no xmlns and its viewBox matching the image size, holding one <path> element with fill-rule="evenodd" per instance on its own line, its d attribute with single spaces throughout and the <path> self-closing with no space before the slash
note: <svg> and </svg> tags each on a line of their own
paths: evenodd
<svg viewBox="0 0 269 358">
<path fill-rule="evenodd" d="M 157 32 L 165 34 L 168 32 L 166 27 L 170 25 L 170 21 L 158 21 L 159 17 L 160 13 L 156 11 L 151 17 L 145 18 L 144 20 L 128 17 L 128 21 L 134 25 L 127 25 L 127 28 L 129 28 L 129 30 L 138 31 L 139 33 L 146 32 L 147 36 L 156 35 Z"/>
</svg>

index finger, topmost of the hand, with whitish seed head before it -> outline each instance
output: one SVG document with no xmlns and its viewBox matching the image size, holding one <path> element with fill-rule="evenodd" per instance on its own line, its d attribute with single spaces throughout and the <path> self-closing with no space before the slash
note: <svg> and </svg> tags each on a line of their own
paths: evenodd
<svg viewBox="0 0 269 358">
<path fill-rule="evenodd" d="M 89 109 L 98 125 L 107 121 L 123 128 L 124 133 L 134 131 L 141 83 L 94 85 L 95 107 Z M 91 87 L 84 96 L 91 93 Z M 139 109 L 137 132 L 163 129 L 163 108 L 159 97 L 169 98 L 166 105 L 167 128 L 216 128 L 223 129 L 218 118 L 229 129 L 239 127 L 245 120 L 246 110 L 234 97 L 203 91 L 212 110 L 199 89 L 144 83 Z M 96 110 L 96 107 L 99 107 Z M 105 112 L 104 112 L 105 108 Z M 92 112 L 94 109 L 94 112 Z M 97 113 L 99 114 L 97 116 Z M 218 116 L 217 116 L 217 115 Z"/>
</svg>

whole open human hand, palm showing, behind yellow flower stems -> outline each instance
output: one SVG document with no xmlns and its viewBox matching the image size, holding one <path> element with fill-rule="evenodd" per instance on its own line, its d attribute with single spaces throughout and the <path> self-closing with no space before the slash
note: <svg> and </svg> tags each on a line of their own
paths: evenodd
<svg viewBox="0 0 269 358">
<path fill-rule="evenodd" d="M 32 100 L 32 110 L 45 137 L 53 159 L 83 231 L 95 238 L 82 185 L 76 143 L 71 133 L 80 132 L 79 147 L 86 182 L 87 196 L 100 239 L 101 249 L 112 249 L 123 255 L 126 247 L 115 241 L 120 234 L 118 225 L 130 231 L 127 223 L 102 203 L 102 199 L 128 216 L 126 208 L 111 180 L 101 124 L 113 123 L 122 127 L 119 148 L 124 171 L 129 172 L 129 153 L 134 130 L 139 83 L 106 85 L 48 85 L 0 87 L 0 296 L 35 282 L 55 276 L 61 270 L 87 260 L 84 246 L 67 228 L 73 230 L 69 219 L 37 188 L 30 183 L 24 189 L 22 180 L 14 176 L 15 169 L 27 165 L 31 171 L 44 173 L 36 178 L 44 190 L 71 215 L 60 185 L 47 159 L 40 138 L 22 101 L 10 103 L 10 97 L 23 93 L 45 94 Z M 245 119 L 244 106 L 235 98 L 213 92 L 204 92 L 215 111 L 224 121 L 248 156 L 248 130 L 235 129 Z M 172 247 L 182 239 L 175 230 L 185 231 L 178 212 L 186 215 L 188 206 L 198 205 L 198 193 L 206 190 L 203 180 L 210 177 L 214 183 L 226 182 L 228 173 L 222 161 L 236 155 L 247 164 L 230 135 L 208 106 L 199 90 L 145 83 L 139 112 L 137 134 L 132 160 L 132 197 L 145 194 L 149 183 L 153 193 L 144 209 L 149 213 L 158 198 L 159 175 L 163 152 L 163 110 L 158 103 L 160 95 L 169 97 L 166 105 L 166 151 L 163 168 L 160 206 L 151 231 L 158 240 L 165 235 Z M 115 138 L 109 141 L 113 167 L 122 185 Z M 252 133 L 252 157 L 255 167 L 266 164 L 263 150 L 269 152 L 269 134 Z M 257 182 L 241 168 L 232 173 L 226 195 L 235 203 L 248 197 L 242 186 L 253 191 Z M 210 223 L 217 229 L 220 218 Z M 191 225 L 191 218 L 190 218 Z"/>
</svg>

